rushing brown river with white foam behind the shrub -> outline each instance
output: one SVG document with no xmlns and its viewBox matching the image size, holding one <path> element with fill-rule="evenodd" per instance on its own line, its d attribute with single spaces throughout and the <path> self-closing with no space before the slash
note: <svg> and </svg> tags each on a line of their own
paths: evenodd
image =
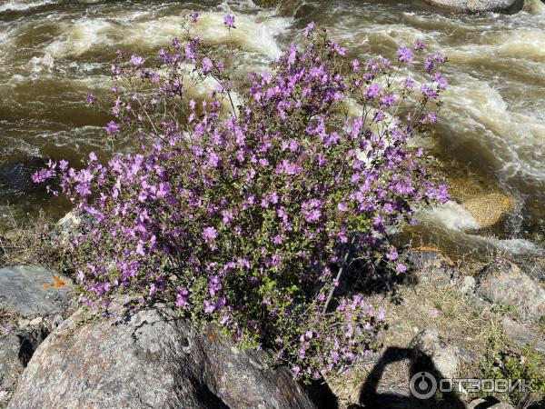
<svg viewBox="0 0 545 409">
<path fill-rule="evenodd" d="M 30 158 L 77 163 L 91 151 L 111 155 L 103 139 L 108 117 L 86 107 L 84 95 L 107 92 L 116 49 L 152 55 L 183 35 L 183 15 L 193 10 L 204 12 L 197 34 L 215 44 L 236 43 L 248 71 L 263 70 L 283 47 L 301 39 L 312 20 L 354 56 L 393 56 L 416 38 L 449 55 L 451 89 L 436 135 L 414 143 L 430 147 L 451 175 L 483 191 L 500 188 L 514 198 L 515 210 L 500 229 L 485 231 L 491 238 L 476 233 L 455 204 L 426 212 L 423 231 L 428 240 L 464 249 L 542 251 L 545 5 L 540 0 L 526 0 L 512 15 L 456 15 L 388 0 L 293 0 L 275 8 L 250 0 L 0 0 L 0 169 Z M 231 40 L 223 27 L 226 13 L 237 16 Z M 9 186 L 0 192 L 0 206 L 6 204 L 52 214 L 68 207 L 36 189 L 22 195 Z"/>
</svg>

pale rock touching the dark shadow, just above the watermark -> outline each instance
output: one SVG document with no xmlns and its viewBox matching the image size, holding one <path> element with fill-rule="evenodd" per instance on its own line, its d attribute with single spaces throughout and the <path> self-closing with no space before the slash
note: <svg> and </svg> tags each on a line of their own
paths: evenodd
<svg viewBox="0 0 545 409">
<path fill-rule="evenodd" d="M 435 328 L 426 328 L 411 341 L 411 347 L 416 351 L 415 362 L 420 355 L 431 358 L 435 369 L 445 378 L 453 378 L 458 371 L 458 349 L 448 344 Z"/>
</svg>

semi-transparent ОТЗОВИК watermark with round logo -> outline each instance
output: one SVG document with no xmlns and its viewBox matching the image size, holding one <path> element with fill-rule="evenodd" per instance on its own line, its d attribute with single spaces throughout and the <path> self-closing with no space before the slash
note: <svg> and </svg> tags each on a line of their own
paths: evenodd
<svg viewBox="0 0 545 409">
<path fill-rule="evenodd" d="M 503 393 L 513 391 L 534 392 L 531 382 L 526 379 L 474 379 L 474 378 L 443 378 L 439 381 L 429 372 L 419 372 L 411 377 L 409 384 L 411 394 L 418 399 L 429 399 L 438 391 L 449 393 L 452 391 L 466 393 Z"/>
</svg>

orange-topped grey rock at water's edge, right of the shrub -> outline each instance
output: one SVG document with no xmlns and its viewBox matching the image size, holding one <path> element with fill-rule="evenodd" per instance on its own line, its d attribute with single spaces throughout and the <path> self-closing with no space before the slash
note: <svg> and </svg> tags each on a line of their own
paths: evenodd
<svg viewBox="0 0 545 409">
<path fill-rule="evenodd" d="M 452 284 L 459 274 L 451 259 L 433 247 L 411 250 L 407 261 L 418 279 L 434 284 Z"/>
</svg>

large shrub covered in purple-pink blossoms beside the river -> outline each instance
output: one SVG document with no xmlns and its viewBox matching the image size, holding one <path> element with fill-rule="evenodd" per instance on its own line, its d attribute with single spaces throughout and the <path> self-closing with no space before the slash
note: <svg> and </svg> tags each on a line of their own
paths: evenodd
<svg viewBox="0 0 545 409">
<path fill-rule="evenodd" d="M 235 17 L 224 25 L 235 29 Z M 427 105 L 439 106 L 445 59 L 419 41 L 395 63 L 349 62 L 309 25 L 302 48 L 249 75 L 237 106 L 232 73 L 189 33 L 159 51 L 158 66 L 118 52 L 106 131 L 134 135 L 137 152 L 35 175 L 60 175 L 64 195 L 94 220 L 73 243 L 81 300 L 161 300 L 243 346 L 272 349 L 297 378 L 336 373 L 370 348 L 384 319 L 360 294 L 338 291 L 343 272 L 365 259 L 403 273 L 387 227 L 447 198 L 422 151 L 407 147 L 436 120 Z M 419 55 L 420 90 L 399 76 Z M 186 98 L 208 80 L 206 98 Z"/>
</svg>

